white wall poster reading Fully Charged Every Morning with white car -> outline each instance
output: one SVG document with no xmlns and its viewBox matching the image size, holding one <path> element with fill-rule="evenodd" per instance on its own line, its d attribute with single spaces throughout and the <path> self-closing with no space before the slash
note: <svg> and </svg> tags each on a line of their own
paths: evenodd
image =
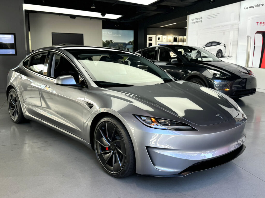
<svg viewBox="0 0 265 198">
<path fill-rule="evenodd" d="M 240 2 L 188 16 L 187 45 L 236 63 Z"/>
</svg>

